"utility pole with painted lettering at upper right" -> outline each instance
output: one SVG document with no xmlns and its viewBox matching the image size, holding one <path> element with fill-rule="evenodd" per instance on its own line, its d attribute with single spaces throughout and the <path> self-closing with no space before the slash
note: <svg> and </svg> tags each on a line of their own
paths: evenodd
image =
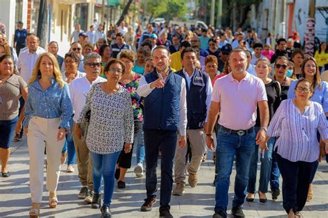
<svg viewBox="0 0 328 218">
<path fill-rule="evenodd" d="M 314 37 L 316 37 L 316 0 L 309 2 L 309 17 L 307 18 L 307 30 L 305 32 L 304 53 L 314 54 Z"/>
</svg>

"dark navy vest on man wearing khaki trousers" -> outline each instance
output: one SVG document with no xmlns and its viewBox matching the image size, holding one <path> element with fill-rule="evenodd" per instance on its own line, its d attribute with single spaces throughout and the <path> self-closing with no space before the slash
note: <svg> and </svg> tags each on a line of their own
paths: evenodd
<svg viewBox="0 0 328 218">
<path fill-rule="evenodd" d="M 183 70 L 176 72 L 185 78 Z M 206 119 L 206 86 L 208 84 L 208 75 L 199 70 L 194 71 L 190 87 L 187 87 L 187 129 L 203 129 Z"/>
</svg>

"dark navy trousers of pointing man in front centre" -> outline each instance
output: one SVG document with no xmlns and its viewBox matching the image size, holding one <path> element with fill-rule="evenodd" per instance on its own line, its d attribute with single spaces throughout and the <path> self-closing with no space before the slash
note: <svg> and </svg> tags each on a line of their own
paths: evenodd
<svg viewBox="0 0 328 218">
<path fill-rule="evenodd" d="M 177 132 L 144 129 L 144 137 L 147 198 L 156 197 L 156 167 L 158 150 L 161 147 L 161 207 L 159 210 L 170 210 L 169 203 L 173 185 L 172 167 L 178 137 Z"/>
</svg>

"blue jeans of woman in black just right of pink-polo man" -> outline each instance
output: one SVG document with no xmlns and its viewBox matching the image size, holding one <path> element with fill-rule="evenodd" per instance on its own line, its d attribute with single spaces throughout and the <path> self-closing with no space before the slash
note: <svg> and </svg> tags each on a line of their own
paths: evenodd
<svg viewBox="0 0 328 218">
<path fill-rule="evenodd" d="M 259 131 L 259 127 L 255 127 L 255 134 Z M 264 151 L 264 156 L 258 158 L 259 154 L 259 145 L 255 145 L 255 152 L 250 158 L 250 168 L 249 168 L 249 180 L 247 186 L 248 193 L 255 193 L 255 183 L 256 183 L 256 174 L 257 174 L 257 161 L 261 161 L 261 168 L 259 170 L 259 191 L 262 193 L 268 192 L 268 182 L 270 181 L 271 174 L 271 161 L 272 161 L 272 152 L 273 144 L 275 143 L 275 138 L 271 137 L 268 140 L 268 151 Z"/>
</svg>

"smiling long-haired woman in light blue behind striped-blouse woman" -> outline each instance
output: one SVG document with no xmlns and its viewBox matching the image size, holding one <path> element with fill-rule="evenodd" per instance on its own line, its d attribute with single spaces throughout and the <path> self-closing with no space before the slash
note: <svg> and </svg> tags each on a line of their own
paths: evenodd
<svg viewBox="0 0 328 218">
<path fill-rule="evenodd" d="M 322 108 L 326 116 L 328 116 L 328 84 L 325 81 L 320 79 L 320 71 L 318 63 L 314 57 L 306 57 L 302 62 L 302 69 L 300 73 L 301 78 L 305 78 L 311 81 L 311 88 L 313 89 L 314 93 L 311 96 L 310 100 L 313 102 L 318 102 Z M 295 98 L 295 93 L 291 90 L 295 88 L 297 81 L 291 83 L 291 89 L 288 92 L 288 98 Z M 318 134 L 318 140 L 320 139 Z M 323 146 L 323 144 L 321 143 Z M 319 156 L 318 156 L 319 158 Z M 318 168 L 318 161 L 316 161 L 316 166 L 314 167 L 312 176 L 311 176 L 311 184 L 309 186 L 309 194 L 307 199 L 313 199 L 313 190 L 312 190 L 312 181 L 316 174 L 316 170 Z"/>
</svg>

